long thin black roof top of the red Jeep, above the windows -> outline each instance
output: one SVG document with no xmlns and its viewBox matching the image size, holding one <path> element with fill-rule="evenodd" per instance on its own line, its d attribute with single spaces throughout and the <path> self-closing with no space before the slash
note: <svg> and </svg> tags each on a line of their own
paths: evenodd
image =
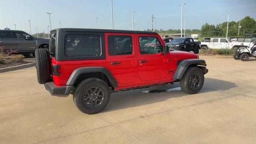
<svg viewBox="0 0 256 144">
<path fill-rule="evenodd" d="M 58 28 L 65 32 L 110 32 L 110 33 L 129 33 L 129 34 L 158 34 L 157 32 L 136 31 L 136 30 L 108 30 L 108 29 L 90 29 L 90 28 Z"/>
</svg>

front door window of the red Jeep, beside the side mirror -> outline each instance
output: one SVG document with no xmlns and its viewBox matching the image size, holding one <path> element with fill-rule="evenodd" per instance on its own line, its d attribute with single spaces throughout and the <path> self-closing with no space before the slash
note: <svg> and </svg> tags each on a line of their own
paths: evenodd
<svg viewBox="0 0 256 144">
<path fill-rule="evenodd" d="M 162 45 L 157 37 L 140 36 L 139 42 L 141 54 L 157 54 L 162 52 Z"/>
</svg>

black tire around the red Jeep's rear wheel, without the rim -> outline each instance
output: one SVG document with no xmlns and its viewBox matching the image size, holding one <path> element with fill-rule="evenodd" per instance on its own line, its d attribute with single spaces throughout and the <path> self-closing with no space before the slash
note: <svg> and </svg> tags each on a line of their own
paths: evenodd
<svg viewBox="0 0 256 144">
<path fill-rule="evenodd" d="M 104 100 L 103 102 L 97 106 L 96 108 L 90 108 L 86 106 L 83 102 L 83 96 L 84 92 L 92 87 L 92 86 L 98 86 L 102 89 L 104 92 Z M 95 114 L 100 111 L 102 111 L 108 104 L 110 100 L 110 89 L 106 82 L 104 82 L 101 79 L 98 78 L 86 78 L 82 80 L 75 88 L 74 94 L 73 94 L 73 100 L 76 107 L 85 114 Z"/>
</svg>

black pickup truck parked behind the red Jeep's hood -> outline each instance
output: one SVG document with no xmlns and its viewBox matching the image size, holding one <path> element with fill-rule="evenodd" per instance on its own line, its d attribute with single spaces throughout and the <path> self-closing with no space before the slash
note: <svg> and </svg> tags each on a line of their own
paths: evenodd
<svg viewBox="0 0 256 144">
<path fill-rule="evenodd" d="M 201 48 L 201 42 L 194 42 L 193 38 L 174 38 L 171 42 L 166 43 L 169 49 L 194 52 L 198 54 Z"/>
</svg>

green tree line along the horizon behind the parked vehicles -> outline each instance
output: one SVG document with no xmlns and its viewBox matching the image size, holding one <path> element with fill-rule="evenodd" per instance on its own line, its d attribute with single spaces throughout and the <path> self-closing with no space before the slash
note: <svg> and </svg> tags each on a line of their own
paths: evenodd
<svg viewBox="0 0 256 144">
<path fill-rule="evenodd" d="M 204 24 L 201 30 L 198 29 L 186 29 L 186 34 L 201 34 L 201 37 L 225 37 L 227 31 L 227 24 L 228 24 L 228 37 L 243 37 L 244 34 L 252 34 L 256 33 L 256 21 L 250 16 L 246 16 L 242 20 L 240 20 L 240 30 L 238 36 L 238 26 L 239 21 L 231 21 L 231 22 L 223 22 L 221 24 Z M 150 29 L 144 31 L 152 31 Z M 180 29 L 174 30 L 154 30 L 158 33 L 165 33 L 165 34 L 180 34 Z M 184 31 L 183 31 L 184 33 Z"/>
</svg>

